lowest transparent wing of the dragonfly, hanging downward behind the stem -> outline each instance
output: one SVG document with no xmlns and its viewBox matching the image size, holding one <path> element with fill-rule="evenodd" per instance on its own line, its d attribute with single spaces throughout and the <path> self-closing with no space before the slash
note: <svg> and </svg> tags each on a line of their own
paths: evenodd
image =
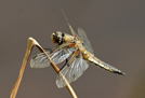
<svg viewBox="0 0 145 98">
<path fill-rule="evenodd" d="M 71 61 L 68 61 L 68 65 L 65 66 L 61 72 L 64 74 L 64 76 L 67 79 L 69 83 L 76 81 L 78 78 L 82 75 L 82 73 L 88 69 L 87 61 L 82 58 L 82 55 L 80 57 L 72 57 Z M 64 80 L 58 74 L 56 78 L 56 85 L 57 87 L 64 87 L 66 86 Z"/>
</svg>

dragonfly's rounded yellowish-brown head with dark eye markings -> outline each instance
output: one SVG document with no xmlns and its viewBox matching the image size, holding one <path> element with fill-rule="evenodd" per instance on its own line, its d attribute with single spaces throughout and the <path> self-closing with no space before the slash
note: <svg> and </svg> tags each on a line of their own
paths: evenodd
<svg viewBox="0 0 145 98">
<path fill-rule="evenodd" d="M 56 32 L 52 33 L 51 39 L 55 44 L 60 45 L 64 42 L 64 36 L 65 36 L 65 33 L 63 33 L 61 31 L 56 31 Z"/>
</svg>

